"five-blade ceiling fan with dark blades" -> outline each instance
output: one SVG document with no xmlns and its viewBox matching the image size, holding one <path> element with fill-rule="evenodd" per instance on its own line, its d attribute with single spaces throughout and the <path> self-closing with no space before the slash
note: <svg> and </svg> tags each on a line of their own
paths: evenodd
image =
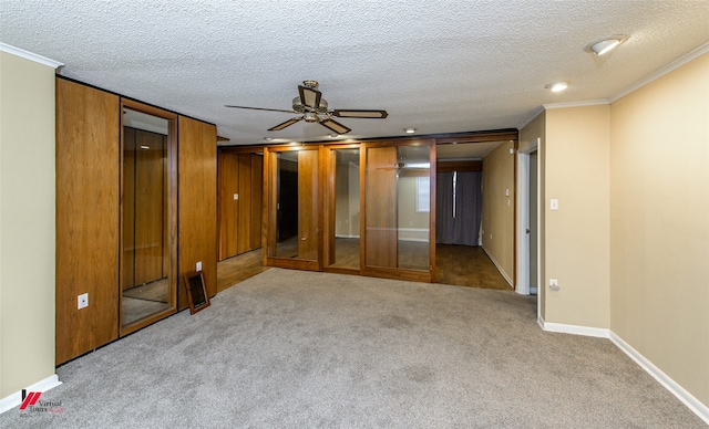
<svg viewBox="0 0 709 429">
<path fill-rule="evenodd" d="M 387 117 L 387 111 L 361 111 L 361 109 L 328 109 L 328 102 L 322 98 L 322 93 L 318 91 L 317 81 L 304 81 L 302 85 L 298 85 L 299 96 L 292 100 L 292 111 L 281 111 L 278 108 L 261 108 L 261 107 L 246 107 L 246 106 L 230 106 L 225 107 L 234 108 L 248 108 L 251 111 L 266 111 L 266 112 L 285 112 L 285 113 L 300 113 L 301 116 L 290 118 L 282 124 L 278 124 L 273 128 L 268 128 L 269 132 L 279 132 L 286 127 L 291 126 L 300 121 L 317 122 L 326 128 L 331 129 L 337 134 L 347 134 L 351 132 L 350 128 L 332 119 L 332 117 L 359 117 L 359 118 L 373 118 L 383 119 Z"/>
</svg>

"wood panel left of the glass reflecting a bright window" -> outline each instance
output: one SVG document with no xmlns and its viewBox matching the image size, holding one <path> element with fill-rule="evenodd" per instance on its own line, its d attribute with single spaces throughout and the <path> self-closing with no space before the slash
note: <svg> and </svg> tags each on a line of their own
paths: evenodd
<svg viewBox="0 0 709 429">
<path fill-rule="evenodd" d="M 367 149 L 366 259 L 369 266 L 397 266 L 397 148 Z"/>
</svg>

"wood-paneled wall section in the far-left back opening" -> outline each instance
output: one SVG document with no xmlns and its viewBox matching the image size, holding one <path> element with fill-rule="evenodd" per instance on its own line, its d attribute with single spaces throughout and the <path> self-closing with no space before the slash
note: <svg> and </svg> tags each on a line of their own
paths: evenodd
<svg viewBox="0 0 709 429">
<path fill-rule="evenodd" d="M 225 150 L 217 155 L 219 261 L 261 247 L 263 158 Z"/>
</svg>

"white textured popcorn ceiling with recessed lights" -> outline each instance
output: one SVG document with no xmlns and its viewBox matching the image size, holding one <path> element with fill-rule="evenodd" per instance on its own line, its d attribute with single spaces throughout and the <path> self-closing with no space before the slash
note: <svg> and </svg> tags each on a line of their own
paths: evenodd
<svg viewBox="0 0 709 429">
<path fill-rule="evenodd" d="M 227 144 L 331 139 L 267 132 L 304 80 L 351 138 L 518 127 L 543 104 L 608 98 L 709 41 L 709 1 L 0 0 L 0 41 L 60 74 L 214 123 Z M 584 52 L 612 34 L 607 56 Z M 569 88 L 544 88 L 565 80 Z M 341 138 L 341 137 L 339 137 Z"/>
</svg>

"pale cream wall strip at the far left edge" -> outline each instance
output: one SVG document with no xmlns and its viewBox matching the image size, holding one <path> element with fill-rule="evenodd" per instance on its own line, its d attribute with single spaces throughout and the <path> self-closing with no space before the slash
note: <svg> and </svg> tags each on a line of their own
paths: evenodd
<svg viewBox="0 0 709 429">
<path fill-rule="evenodd" d="M 55 380 L 54 66 L 9 51 L 3 45 L 0 52 L 3 408 L 22 388 Z"/>
</svg>

